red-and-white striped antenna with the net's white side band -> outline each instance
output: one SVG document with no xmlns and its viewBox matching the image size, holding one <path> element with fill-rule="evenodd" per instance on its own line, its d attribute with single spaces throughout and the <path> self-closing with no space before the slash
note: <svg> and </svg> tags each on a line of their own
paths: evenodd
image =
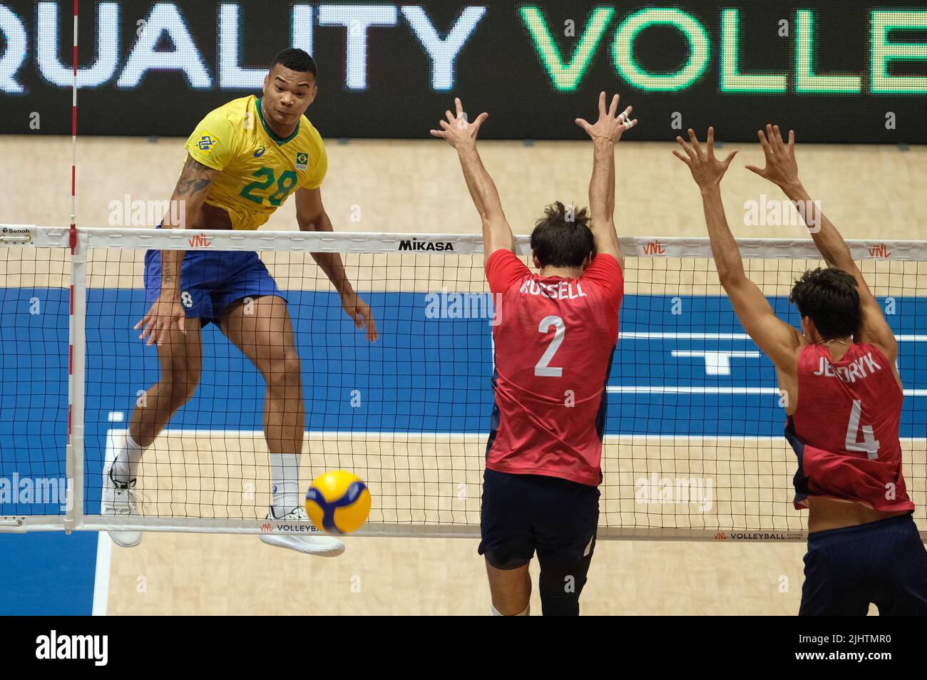
<svg viewBox="0 0 927 680">
<path fill-rule="evenodd" d="M 68 323 L 68 473 L 69 503 L 65 531 L 83 524 L 83 366 L 84 309 L 86 308 L 85 248 L 77 238 L 77 15 L 74 0 L 74 47 L 72 54 L 70 111 L 70 317 Z"/>
</svg>

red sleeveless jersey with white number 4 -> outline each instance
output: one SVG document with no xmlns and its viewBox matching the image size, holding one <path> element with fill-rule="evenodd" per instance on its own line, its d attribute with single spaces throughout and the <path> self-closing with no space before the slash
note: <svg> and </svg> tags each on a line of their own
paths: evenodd
<svg viewBox="0 0 927 680">
<path fill-rule="evenodd" d="M 807 497 L 814 496 L 873 510 L 914 510 L 901 473 L 903 400 L 877 346 L 855 343 L 839 361 L 826 346 L 802 348 L 798 408 L 785 431 L 798 456 L 796 509 L 807 508 Z"/>
</svg>

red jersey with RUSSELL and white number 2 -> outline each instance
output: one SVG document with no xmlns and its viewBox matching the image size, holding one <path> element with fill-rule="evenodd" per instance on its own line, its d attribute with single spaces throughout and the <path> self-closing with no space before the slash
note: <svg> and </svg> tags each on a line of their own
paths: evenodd
<svg viewBox="0 0 927 680">
<path fill-rule="evenodd" d="M 624 289 L 617 260 L 600 254 L 578 279 L 565 279 L 532 274 L 497 250 L 486 277 L 497 315 L 486 466 L 599 485 L 605 381 Z"/>
</svg>

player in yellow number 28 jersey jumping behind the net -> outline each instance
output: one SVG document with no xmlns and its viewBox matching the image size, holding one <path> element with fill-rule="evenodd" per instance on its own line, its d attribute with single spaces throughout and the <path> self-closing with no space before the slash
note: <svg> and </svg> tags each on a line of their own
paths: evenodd
<svg viewBox="0 0 927 680">
<path fill-rule="evenodd" d="M 286 49 L 274 57 L 260 98 L 235 99 L 210 111 L 186 141 L 189 154 L 172 196 L 184 206 L 186 223 L 165 220 L 162 226 L 253 230 L 292 194 L 300 230 L 333 231 L 319 189 L 327 169 L 322 137 L 303 116 L 318 90 L 316 75 L 312 57 Z M 313 253 L 312 258 L 337 289 L 345 312 L 375 342 L 370 307 L 351 287 L 340 256 Z M 107 450 L 103 514 L 139 514 L 134 488 L 139 461 L 196 391 L 200 330 L 212 321 L 267 383 L 264 436 L 273 484 L 267 517 L 308 520 L 299 488 L 306 420 L 300 361 L 286 300 L 257 253 L 148 251 L 145 283 L 151 308 L 135 328 L 148 345 L 158 347 L 160 378 L 146 391 L 144 405 L 133 410 L 124 443 Z M 142 539 L 138 532 L 109 534 L 124 547 Z M 260 540 L 314 555 L 344 551 L 344 544 L 323 535 L 261 535 Z"/>
</svg>

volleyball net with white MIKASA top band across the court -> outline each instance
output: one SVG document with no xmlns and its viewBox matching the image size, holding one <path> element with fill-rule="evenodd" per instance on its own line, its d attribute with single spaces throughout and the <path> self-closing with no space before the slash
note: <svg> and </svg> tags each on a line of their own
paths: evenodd
<svg viewBox="0 0 927 680">
<path fill-rule="evenodd" d="M 141 514 L 100 514 L 107 448 L 159 379 L 155 347 L 133 330 L 150 307 L 146 250 L 183 249 L 258 252 L 286 297 L 304 489 L 347 469 L 374 500 L 359 534 L 478 535 L 494 318 L 478 236 L 0 226 L 0 530 L 301 529 L 263 519 L 264 380 L 214 324 L 196 392 L 141 464 Z M 739 243 L 748 276 L 797 327 L 792 283 L 823 266 L 812 242 Z M 600 537 L 804 539 L 775 371 L 736 320 L 707 239 L 621 244 Z M 927 243 L 850 245 L 899 341 L 904 474 L 927 536 Z M 529 262 L 527 237 L 518 248 Z M 320 252 L 342 255 L 377 343 L 341 309 L 311 258 Z"/>
</svg>

